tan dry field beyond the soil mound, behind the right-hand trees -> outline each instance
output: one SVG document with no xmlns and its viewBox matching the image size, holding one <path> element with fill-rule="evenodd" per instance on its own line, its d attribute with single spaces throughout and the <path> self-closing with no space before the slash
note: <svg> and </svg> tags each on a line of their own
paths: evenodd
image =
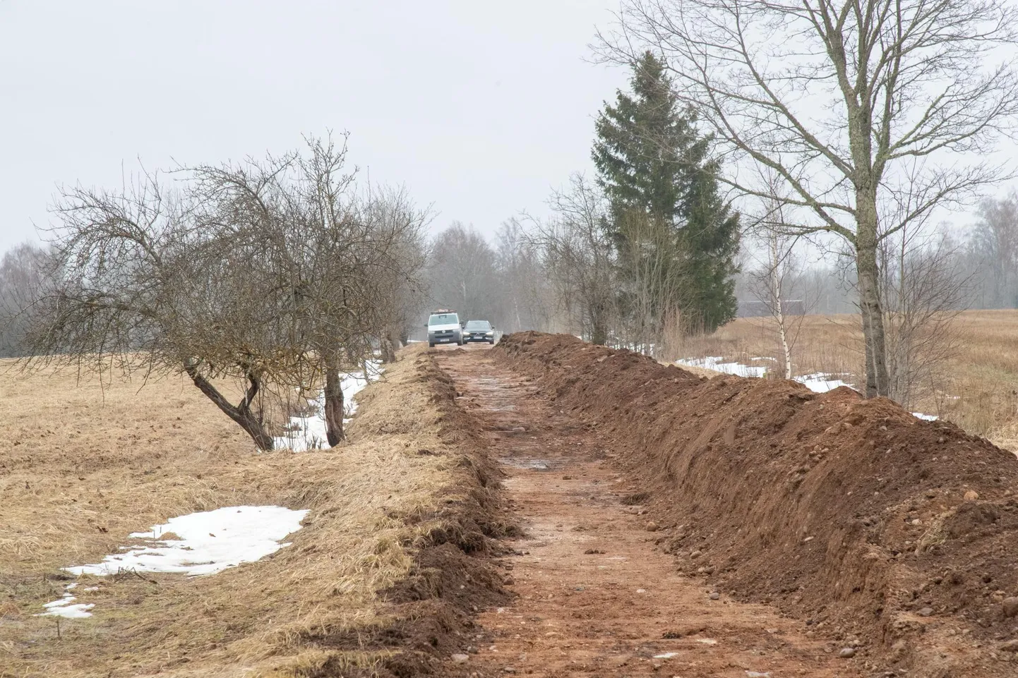
<svg viewBox="0 0 1018 678">
<path fill-rule="evenodd" d="M 970 433 L 1018 451 L 1018 310 L 969 310 L 956 321 L 957 346 L 936 383 L 912 409 L 937 414 Z M 750 358 L 779 355 L 768 319 L 741 318 L 715 334 L 686 339 L 676 357 Z M 843 374 L 857 384 L 862 374 L 862 333 L 857 316 L 807 316 L 793 349 L 795 375 Z"/>
</svg>

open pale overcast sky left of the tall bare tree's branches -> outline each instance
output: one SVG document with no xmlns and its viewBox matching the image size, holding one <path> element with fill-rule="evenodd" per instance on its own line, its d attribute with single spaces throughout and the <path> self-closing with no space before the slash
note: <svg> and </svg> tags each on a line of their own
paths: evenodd
<svg viewBox="0 0 1018 678">
<path fill-rule="evenodd" d="M 588 170 L 626 73 L 587 45 L 617 0 L 0 0 L 0 251 L 57 183 L 348 130 L 373 181 L 490 234 Z"/>
</svg>

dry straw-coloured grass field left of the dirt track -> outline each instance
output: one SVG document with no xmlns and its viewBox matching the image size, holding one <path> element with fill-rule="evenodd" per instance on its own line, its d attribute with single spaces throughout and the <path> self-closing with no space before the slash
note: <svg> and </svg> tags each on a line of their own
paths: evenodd
<svg viewBox="0 0 1018 678">
<path fill-rule="evenodd" d="M 407 349 L 363 391 L 341 449 L 258 453 L 195 389 L 138 390 L 72 376 L 0 376 L 0 676 L 309 675 L 371 652 L 310 638 L 385 623 L 377 591 L 456 483 L 440 413 Z M 464 488 L 464 492 L 466 489 Z M 276 504 L 310 513 L 292 546 L 258 563 L 186 578 L 81 577 L 94 617 L 38 617 L 63 592 L 59 568 L 99 562 L 131 531 L 191 511 Z M 97 585 L 98 590 L 82 591 Z M 337 656 L 339 656 L 337 658 Z"/>
</svg>

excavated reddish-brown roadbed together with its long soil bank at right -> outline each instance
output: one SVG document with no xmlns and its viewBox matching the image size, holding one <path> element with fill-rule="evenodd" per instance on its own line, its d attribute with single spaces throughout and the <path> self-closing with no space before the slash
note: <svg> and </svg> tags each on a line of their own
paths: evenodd
<svg viewBox="0 0 1018 678">
<path fill-rule="evenodd" d="M 480 615 L 460 668 L 1018 671 L 1014 455 L 847 389 L 705 380 L 568 336 L 438 357 L 526 533 L 502 563 L 516 599 Z"/>
</svg>

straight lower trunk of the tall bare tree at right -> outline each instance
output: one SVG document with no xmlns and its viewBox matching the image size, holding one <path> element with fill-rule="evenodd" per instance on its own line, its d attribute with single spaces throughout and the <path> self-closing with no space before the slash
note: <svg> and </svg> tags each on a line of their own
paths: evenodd
<svg viewBox="0 0 1018 678">
<path fill-rule="evenodd" d="M 859 284 L 859 312 L 865 344 L 866 397 L 887 396 L 888 368 L 881 307 L 880 267 L 876 264 L 876 197 L 856 201 L 855 270 Z"/>
</svg>

